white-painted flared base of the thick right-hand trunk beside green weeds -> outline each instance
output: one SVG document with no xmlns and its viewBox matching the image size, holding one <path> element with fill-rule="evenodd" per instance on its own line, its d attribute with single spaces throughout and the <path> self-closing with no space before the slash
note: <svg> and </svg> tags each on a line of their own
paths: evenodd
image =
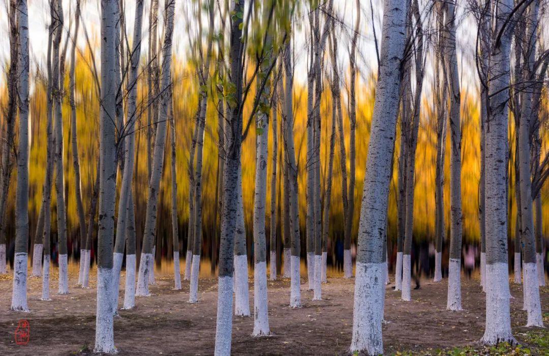
<svg viewBox="0 0 549 356">
<path fill-rule="evenodd" d="M 485 344 L 517 342 L 511 332 L 508 278 L 507 263 L 486 264 L 486 326 L 481 339 Z"/>
</svg>

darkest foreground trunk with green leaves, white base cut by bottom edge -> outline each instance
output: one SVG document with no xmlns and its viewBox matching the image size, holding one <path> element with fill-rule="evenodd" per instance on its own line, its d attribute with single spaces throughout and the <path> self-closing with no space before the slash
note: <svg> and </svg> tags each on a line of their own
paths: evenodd
<svg viewBox="0 0 549 356">
<path fill-rule="evenodd" d="M 238 172 L 240 170 L 240 146 L 242 142 L 242 17 L 245 1 L 231 0 L 234 20 L 231 23 L 229 49 L 229 77 L 234 87 L 234 102 L 227 101 L 230 116 L 226 123 L 226 156 L 223 171 L 223 213 L 219 253 L 219 277 L 217 288 L 217 323 L 215 331 L 215 355 L 231 354 L 232 304 L 233 304 L 233 249 L 237 230 Z"/>
</svg>

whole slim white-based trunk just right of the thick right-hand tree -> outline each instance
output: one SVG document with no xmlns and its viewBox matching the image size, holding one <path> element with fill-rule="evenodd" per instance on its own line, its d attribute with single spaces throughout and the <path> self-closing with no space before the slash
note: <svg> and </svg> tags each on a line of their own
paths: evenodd
<svg viewBox="0 0 549 356">
<path fill-rule="evenodd" d="M 533 79 L 536 31 L 539 0 L 534 0 L 528 9 L 526 16 L 526 36 L 528 44 L 523 63 L 523 80 Z M 530 127 L 532 111 L 532 93 L 525 90 L 521 93 L 521 113 L 518 133 L 518 158 L 520 173 L 520 219 L 522 222 L 521 240 L 524 257 L 524 296 L 528 321 L 526 326 L 543 326 L 541 316 L 540 290 L 537 276 L 536 241 L 534 231 L 534 211 L 530 175 Z"/>
</svg>

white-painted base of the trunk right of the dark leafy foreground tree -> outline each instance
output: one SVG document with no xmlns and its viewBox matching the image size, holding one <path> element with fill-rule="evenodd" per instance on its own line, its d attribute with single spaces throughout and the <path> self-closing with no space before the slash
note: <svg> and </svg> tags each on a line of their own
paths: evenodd
<svg viewBox="0 0 549 356">
<path fill-rule="evenodd" d="M 254 268 L 254 331 L 252 336 L 270 335 L 267 302 L 267 264 L 258 262 Z"/>
</svg>

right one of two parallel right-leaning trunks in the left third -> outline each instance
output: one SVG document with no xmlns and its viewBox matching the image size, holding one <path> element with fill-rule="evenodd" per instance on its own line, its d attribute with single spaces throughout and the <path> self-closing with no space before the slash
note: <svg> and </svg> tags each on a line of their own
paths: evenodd
<svg viewBox="0 0 549 356">
<path fill-rule="evenodd" d="M 160 89 L 160 115 L 156 123 L 154 144 L 153 171 L 150 176 L 147 213 L 145 215 L 145 230 L 143 232 L 143 248 L 139 275 L 137 278 L 136 296 L 149 296 L 149 274 L 153 268 L 153 245 L 156 237 L 156 214 L 158 210 L 158 192 L 164 166 L 164 145 L 166 143 L 166 121 L 170 105 L 171 87 L 171 47 L 173 34 L 173 12 L 175 0 L 165 4 L 165 32 L 162 48 L 162 73 Z"/>
</svg>

